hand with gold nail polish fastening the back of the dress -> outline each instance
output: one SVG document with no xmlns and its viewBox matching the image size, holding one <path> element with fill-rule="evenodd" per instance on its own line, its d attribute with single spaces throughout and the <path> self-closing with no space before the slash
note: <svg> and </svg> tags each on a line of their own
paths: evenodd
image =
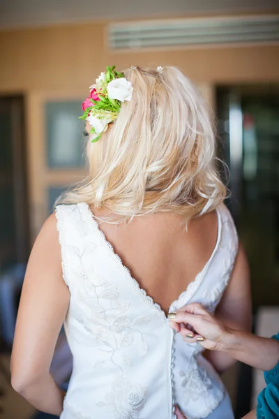
<svg viewBox="0 0 279 419">
<path fill-rule="evenodd" d="M 170 325 L 188 343 L 198 341 L 206 349 L 223 350 L 229 328 L 209 314 L 201 304 L 192 303 L 170 313 Z"/>
</svg>

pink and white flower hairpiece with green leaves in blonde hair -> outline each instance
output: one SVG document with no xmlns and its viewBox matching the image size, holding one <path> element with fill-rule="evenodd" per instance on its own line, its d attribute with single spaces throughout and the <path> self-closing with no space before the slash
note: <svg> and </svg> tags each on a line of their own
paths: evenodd
<svg viewBox="0 0 279 419">
<path fill-rule="evenodd" d="M 118 117 L 122 102 L 130 101 L 132 94 L 131 82 L 124 78 L 123 73 L 117 73 L 115 66 L 100 73 L 96 84 L 90 87 L 89 97 L 82 103 L 84 114 L 81 119 L 86 119 L 92 126 L 92 142 L 98 141 L 107 131 L 108 124 Z"/>
</svg>

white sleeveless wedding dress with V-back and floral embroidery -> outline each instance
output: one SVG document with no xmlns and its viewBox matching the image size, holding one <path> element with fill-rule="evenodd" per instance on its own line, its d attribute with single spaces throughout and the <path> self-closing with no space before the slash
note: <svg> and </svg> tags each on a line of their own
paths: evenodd
<svg viewBox="0 0 279 419">
<path fill-rule="evenodd" d="M 169 311 L 200 302 L 214 311 L 238 248 L 232 217 L 218 213 L 216 247 Z M 160 306 L 130 276 L 89 206 L 56 207 L 63 278 L 70 290 L 65 321 L 73 353 L 61 419 L 233 419 L 218 374 L 199 344 L 175 335 Z"/>
</svg>

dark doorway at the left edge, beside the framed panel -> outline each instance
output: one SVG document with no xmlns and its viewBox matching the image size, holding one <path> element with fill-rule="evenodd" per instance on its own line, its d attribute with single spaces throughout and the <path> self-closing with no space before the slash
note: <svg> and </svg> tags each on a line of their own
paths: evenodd
<svg viewBox="0 0 279 419">
<path fill-rule="evenodd" d="M 0 98 L 0 272 L 30 251 L 24 100 Z"/>
</svg>

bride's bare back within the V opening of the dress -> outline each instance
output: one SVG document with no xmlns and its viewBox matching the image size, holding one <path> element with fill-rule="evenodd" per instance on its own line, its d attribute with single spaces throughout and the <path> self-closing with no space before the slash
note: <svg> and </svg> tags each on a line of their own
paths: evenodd
<svg viewBox="0 0 279 419">
<path fill-rule="evenodd" d="M 167 313 L 209 260 L 218 216 L 216 211 L 200 216 L 190 221 L 187 231 L 180 216 L 163 212 L 118 225 L 102 222 L 100 230 L 140 287 Z"/>
</svg>

